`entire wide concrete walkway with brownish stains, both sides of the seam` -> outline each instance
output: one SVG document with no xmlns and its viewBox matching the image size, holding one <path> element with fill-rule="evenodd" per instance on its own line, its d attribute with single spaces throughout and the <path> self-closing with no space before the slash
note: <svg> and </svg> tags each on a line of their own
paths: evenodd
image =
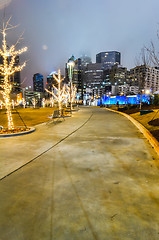
<svg viewBox="0 0 159 240">
<path fill-rule="evenodd" d="M 0 240 L 157 240 L 158 173 L 147 139 L 105 109 L 0 139 Z"/>
</svg>

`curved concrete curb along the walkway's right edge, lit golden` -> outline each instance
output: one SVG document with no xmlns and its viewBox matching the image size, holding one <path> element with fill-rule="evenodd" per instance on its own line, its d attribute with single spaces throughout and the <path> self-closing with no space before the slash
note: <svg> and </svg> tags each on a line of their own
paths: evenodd
<svg viewBox="0 0 159 240">
<path fill-rule="evenodd" d="M 143 135 L 147 138 L 147 140 L 150 142 L 151 146 L 154 148 L 157 155 L 159 156 L 159 142 L 152 136 L 149 130 L 147 130 L 141 123 L 139 123 L 137 120 L 135 120 L 133 117 L 129 116 L 126 113 L 119 112 L 109 108 L 106 108 L 106 109 L 115 113 L 119 113 L 124 117 L 128 118 L 140 130 L 140 132 L 143 133 Z"/>
</svg>

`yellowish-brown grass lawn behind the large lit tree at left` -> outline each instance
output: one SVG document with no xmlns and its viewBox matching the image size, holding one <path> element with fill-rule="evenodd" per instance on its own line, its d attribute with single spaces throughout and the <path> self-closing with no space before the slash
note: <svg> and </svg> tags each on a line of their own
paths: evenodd
<svg viewBox="0 0 159 240">
<path fill-rule="evenodd" d="M 32 127 L 37 124 L 49 121 L 49 116 L 53 113 L 53 110 L 57 108 L 17 108 L 21 118 L 25 122 L 26 126 Z M 24 126 L 22 120 L 17 114 L 16 110 L 12 110 L 14 126 Z M 0 110 L 0 125 L 4 128 L 7 127 L 7 114 L 6 110 Z"/>
</svg>

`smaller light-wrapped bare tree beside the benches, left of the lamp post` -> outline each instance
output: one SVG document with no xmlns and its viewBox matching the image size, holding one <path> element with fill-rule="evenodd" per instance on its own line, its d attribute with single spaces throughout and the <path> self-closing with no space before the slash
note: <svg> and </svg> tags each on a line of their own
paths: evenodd
<svg viewBox="0 0 159 240">
<path fill-rule="evenodd" d="M 58 70 L 58 78 L 53 74 L 54 79 L 58 83 L 58 88 L 53 85 L 53 88 L 56 90 L 56 94 L 52 91 L 50 92 L 48 89 L 45 89 L 48 93 L 50 93 L 58 102 L 58 107 L 59 107 L 59 115 L 61 116 L 61 106 L 62 102 L 65 100 L 66 95 L 65 95 L 65 86 L 61 88 L 61 83 L 64 80 L 64 78 L 61 78 L 61 73 L 60 70 Z"/>
</svg>

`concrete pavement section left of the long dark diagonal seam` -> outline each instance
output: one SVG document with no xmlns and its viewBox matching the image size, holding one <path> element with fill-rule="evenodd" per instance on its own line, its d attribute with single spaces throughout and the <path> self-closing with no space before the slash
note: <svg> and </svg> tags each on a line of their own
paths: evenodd
<svg viewBox="0 0 159 240">
<path fill-rule="evenodd" d="M 36 158 L 48 148 L 81 126 L 91 112 L 73 112 L 72 117 L 60 123 L 43 123 L 35 126 L 36 131 L 22 136 L 0 138 L 0 178 Z"/>
</svg>

